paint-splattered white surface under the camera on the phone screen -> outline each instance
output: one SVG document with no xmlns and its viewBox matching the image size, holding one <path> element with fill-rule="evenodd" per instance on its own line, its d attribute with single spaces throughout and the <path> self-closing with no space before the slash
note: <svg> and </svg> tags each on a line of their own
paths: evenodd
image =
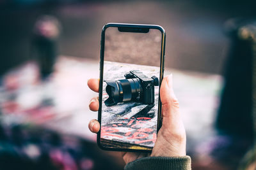
<svg viewBox="0 0 256 170">
<path fill-rule="evenodd" d="M 104 80 L 125 79 L 124 74 L 131 70 L 140 70 L 148 77 L 159 77 L 159 67 L 124 64 L 120 62 L 104 62 Z M 118 103 L 106 106 L 108 99 L 106 83 L 102 89 L 101 138 L 112 140 L 108 147 L 118 147 L 115 142 L 153 147 L 157 133 L 157 110 L 159 86 L 155 86 L 155 103 L 143 104 L 136 102 Z M 123 147 L 131 145 L 123 145 Z"/>
</svg>

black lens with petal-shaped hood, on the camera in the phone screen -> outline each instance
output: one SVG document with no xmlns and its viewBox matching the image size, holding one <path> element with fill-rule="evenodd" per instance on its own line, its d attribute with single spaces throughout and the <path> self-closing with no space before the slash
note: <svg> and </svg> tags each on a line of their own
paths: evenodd
<svg viewBox="0 0 256 170">
<path fill-rule="evenodd" d="M 107 83 L 106 92 L 109 96 L 104 102 L 106 106 L 140 100 L 141 85 L 139 78 L 105 82 Z"/>
</svg>

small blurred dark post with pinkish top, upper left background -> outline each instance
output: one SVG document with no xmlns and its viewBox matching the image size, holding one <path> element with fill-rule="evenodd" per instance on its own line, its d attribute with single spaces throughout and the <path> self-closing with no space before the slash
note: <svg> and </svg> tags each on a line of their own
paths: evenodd
<svg viewBox="0 0 256 170">
<path fill-rule="evenodd" d="M 31 55 L 40 68 L 42 78 L 52 73 L 57 52 L 57 40 L 60 35 L 60 22 L 55 17 L 44 15 L 36 21 Z"/>
</svg>

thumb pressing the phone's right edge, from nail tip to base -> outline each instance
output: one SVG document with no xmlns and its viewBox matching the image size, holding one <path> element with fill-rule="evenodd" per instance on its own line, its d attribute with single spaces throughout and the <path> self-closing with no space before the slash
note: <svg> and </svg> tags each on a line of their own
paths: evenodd
<svg viewBox="0 0 256 170">
<path fill-rule="evenodd" d="M 173 92 L 172 74 L 163 78 L 160 88 L 162 102 L 163 127 L 178 126 L 180 124 L 179 101 Z"/>
</svg>

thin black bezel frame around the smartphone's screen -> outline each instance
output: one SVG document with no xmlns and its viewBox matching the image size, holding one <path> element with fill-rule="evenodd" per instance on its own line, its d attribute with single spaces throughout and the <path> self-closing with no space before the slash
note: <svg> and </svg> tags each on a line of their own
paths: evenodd
<svg viewBox="0 0 256 170">
<path fill-rule="evenodd" d="M 128 31 L 128 32 L 140 32 L 143 29 L 158 29 L 161 31 L 162 34 L 162 41 L 161 41 L 161 63 L 160 63 L 160 81 L 159 87 L 161 87 L 161 82 L 163 80 L 164 74 L 164 51 L 165 51 L 165 38 L 166 33 L 163 27 L 159 25 L 149 25 L 149 24 L 121 24 L 121 23 L 109 23 L 104 25 L 101 32 L 101 40 L 100 40 L 100 83 L 99 83 L 99 111 L 98 111 L 98 121 L 101 125 L 101 113 L 102 113 L 102 85 L 103 85 L 103 72 L 104 72 L 104 48 L 105 48 L 105 32 L 108 27 L 122 27 L 127 29 L 134 29 L 135 31 Z M 127 32 L 127 31 L 125 31 Z M 159 88 L 160 90 L 160 88 Z M 159 93 L 160 94 L 160 93 Z M 159 96 L 160 99 L 160 96 Z M 157 117 L 157 132 L 161 127 L 161 100 L 158 100 L 158 117 Z M 101 127 L 100 127 L 101 129 Z M 124 152 L 152 152 L 152 150 L 137 150 L 137 149 L 127 149 L 127 148 L 108 148 L 104 147 L 100 144 L 100 131 L 97 133 L 97 145 L 102 150 L 111 150 L 111 151 L 124 151 Z"/>
</svg>

